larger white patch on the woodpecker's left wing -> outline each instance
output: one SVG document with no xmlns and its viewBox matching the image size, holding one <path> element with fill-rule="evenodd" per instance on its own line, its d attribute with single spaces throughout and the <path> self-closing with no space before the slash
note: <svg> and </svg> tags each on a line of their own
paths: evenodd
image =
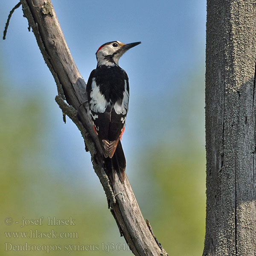
<svg viewBox="0 0 256 256">
<path fill-rule="evenodd" d="M 92 80 L 92 90 L 90 93 L 90 110 L 93 112 L 104 113 L 108 102 L 106 101 L 105 96 L 100 92 L 99 86 L 96 84 L 95 77 Z"/>
</svg>

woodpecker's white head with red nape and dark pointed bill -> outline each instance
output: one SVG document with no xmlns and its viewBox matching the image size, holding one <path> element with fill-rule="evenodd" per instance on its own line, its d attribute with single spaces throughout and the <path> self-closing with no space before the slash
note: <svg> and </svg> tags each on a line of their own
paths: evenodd
<svg viewBox="0 0 256 256">
<path fill-rule="evenodd" d="M 119 58 L 132 47 L 140 44 L 141 42 L 123 44 L 119 41 L 108 42 L 102 44 L 96 52 L 96 58 L 98 66 L 110 66 L 118 65 Z"/>
</svg>

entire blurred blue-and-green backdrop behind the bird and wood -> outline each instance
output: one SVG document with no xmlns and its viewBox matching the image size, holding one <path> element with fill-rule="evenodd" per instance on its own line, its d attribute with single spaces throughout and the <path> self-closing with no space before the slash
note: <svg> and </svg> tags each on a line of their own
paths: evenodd
<svg viewBox="0 0 256 256">
<path fill-rule="evenodd" d="M 127 175 L 144 218 L 169 255 L 201 255 L 206 206 L 205 1 L 71 2 L 52 0 L 85 80 L 95 68 L 94 52 L 101 44 L 142 41 L 120 60 L 130 81 L 123 136 Z M 17 0 L 3 1 L 2 30 L 15 4 Z M 80 132 L 70 119 L 62 121 L 56 94 L 20 8 L 12 16 L 6 41 L 0 40 L 0 256 L 132 255 L 108 209 Z M 5 224 L 9 217 L 12 225 Z M 23 219 L 40 217 L 42 226 L 20 227 Z M 76 225 L 49 226 L 47 217 L 72 217 Z M 6 237 L 6 232 L 29 230 L 73 232 L 78 238 Z M 6 243 L 55 244 L 62 250 L 6 251 Z M 87 251 L 65 251 L 65 245 L 87 245 Z M 122 246 L 125 250 L 118 250 Z"/>
</svg>

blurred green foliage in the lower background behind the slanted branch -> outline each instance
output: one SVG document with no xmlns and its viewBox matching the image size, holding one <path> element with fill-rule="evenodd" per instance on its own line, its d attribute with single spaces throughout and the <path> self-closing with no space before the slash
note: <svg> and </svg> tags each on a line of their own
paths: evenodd
<svg viewBox="0 0 256 256">
<path fill-rule="evenodd" d="M 177 95 L 180 140 L 173 144 L 168 137 L 159 144 L 143 148 L 139 168 L 131 175 L 131 185 L 157 239 L 169 255 L 200 255 L 204 242 L 205 222 L 205 153 L 203 79 L 198 76 L 188 90 Z M 64 167 L 49 159 L 51 127 L 47 127 L 50 109 L 42 98 L 15 94 L 12 84 L 1 76 L 0 87 L 0 255 L 5 243 L 98 245 L 99 250 L 68 253 L 51 251 L 49 255 L 104 255 L 102 243 L 122 246 L 116 223 L 107 208 L 100 185 L 92 187 L 84 177 L 62 175 Z M 194 101 L 197 97 L 197 101 Z M 61 113 L 60 113 L 61 115 Z M 68 122 L 71 122 L 68 120 Z M 151 120 L 148 120 L 151 122 Z M 64 124 L 63 124 L 64 125 Z M 158 124 L 161 125 L 161 124 Z M 81 138 L 82 140 L 82 138 Z M 86 154 L 84 152 L 84 154 Z M 52 156 L 54 158 L 54 155 Z M 86 170 L 84 170 L 86 172 Z M 129 170 L 128 176 L 129 176 Z M 81 180 L 82 179 L 82 180 Z M 84 184 L 84 185 L 83 185 Z M 99 191 L 99 192 L 98 192 Z M 42 226 L 6 225 L 14 221 L 44 216 Z M 77 232 L 74 239 L 7 239 L 4 232 L 36 230 L 49 232 L 46 218 L 72 216 L 75 226 L 54 226 L 56 232 Z M 108 255 L 131 255 L 113 250 Z M 5 252 L 5 253 L 3 253 Z M 45 252 L 15 252 L 15 255 L 46 255 Z"/>
</svg>

